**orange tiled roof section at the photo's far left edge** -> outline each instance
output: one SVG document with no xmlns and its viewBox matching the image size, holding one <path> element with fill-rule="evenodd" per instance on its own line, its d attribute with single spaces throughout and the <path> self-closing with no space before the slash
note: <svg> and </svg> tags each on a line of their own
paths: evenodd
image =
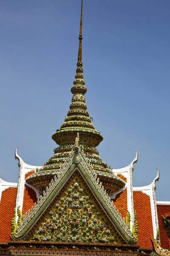
<svg viewBox="0 0 170 256">
<path fill-rule="evenodd" d="M 6 243 L 10 240 L 11 219 L 14 216 L 15 199 L 17 188 L 8 188 L 2 192 L 0 201 L 0 242 Z"/>
</svg>

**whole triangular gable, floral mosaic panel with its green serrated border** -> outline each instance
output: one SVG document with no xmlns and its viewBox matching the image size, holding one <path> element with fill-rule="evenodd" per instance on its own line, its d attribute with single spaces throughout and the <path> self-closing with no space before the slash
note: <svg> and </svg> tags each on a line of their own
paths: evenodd
<svg viewBox="0 0 170 256">
<path fill-rule="evenodd" d="M 78 150 L 72 151 L 11 238 L 112 244 L 136 242 L 85 154 Z"/>
</svg>

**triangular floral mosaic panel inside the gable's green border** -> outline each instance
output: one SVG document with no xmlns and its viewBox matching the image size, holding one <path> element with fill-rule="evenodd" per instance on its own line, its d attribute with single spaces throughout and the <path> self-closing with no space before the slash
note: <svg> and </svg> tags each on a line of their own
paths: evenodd
<svg viewBox="0 0 170 256">
<path fill-rule="evenodd" d="M 117 239 L 78 176 L 65 189 L 31 238 L 34 241 L 97 243 L 116 243 Z"/>
</svg>

